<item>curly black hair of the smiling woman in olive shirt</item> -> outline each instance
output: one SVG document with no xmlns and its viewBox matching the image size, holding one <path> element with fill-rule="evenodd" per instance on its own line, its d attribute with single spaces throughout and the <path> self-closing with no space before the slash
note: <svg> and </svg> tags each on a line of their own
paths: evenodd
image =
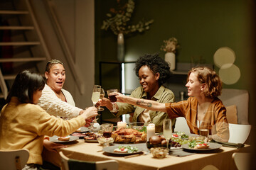
<svg viewBox="0 0 256 170">
<path fill-rule="evenodd" d="M 151 69 L 154 74 L 160 74 L 158 80 L 160 86 L 164 84 L 171 76 L 169 64 L 161 57 L 159 57 L 159 53 L 155 53 L 153 55 L 146 54 L 142 57 L 139 57 L 134 67 L 134 71 L 137 77 L 139 77 L 139 69 L 145 65 L 149 67 L 149 69 Z"/>
</svg>

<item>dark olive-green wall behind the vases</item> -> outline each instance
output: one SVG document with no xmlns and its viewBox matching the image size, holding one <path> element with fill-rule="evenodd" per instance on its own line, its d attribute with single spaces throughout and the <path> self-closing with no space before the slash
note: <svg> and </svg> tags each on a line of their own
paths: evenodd
<svg viewBox="0 0 256 170">
<path fill-rule="evenodd" d="M 116 0 L 95 0 L 95 77 L 98 79 L 98 62 L 117 59 L 117 36 L 101 30 L 105 14 Z M 135 0 L 132 23 L 154 19 L 150 30 L 124 37 L 126 60 L 137 60 L 145 53 L 160 51 L 163 40 L 178 39 L 181 47 L 176 54 L 178 62 L 191 62 L 191 57 L 202 57 L 213 63 L 213 55 L 219 47 L 235 51 L 235 64 L 241 77 L 228 89 L 247 89 L 252 95 L 250 71 L 252 71 L 252 1 L 250 0 Z M 215 67 L 218 72 L 218 67 Z M 251 96 L 250 96 L 251 97 Z"/>
</svg>

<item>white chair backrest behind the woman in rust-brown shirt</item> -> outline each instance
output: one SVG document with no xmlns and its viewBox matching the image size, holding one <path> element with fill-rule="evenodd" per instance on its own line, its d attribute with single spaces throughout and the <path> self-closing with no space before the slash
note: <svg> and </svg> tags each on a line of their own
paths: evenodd
<svg viewBox="0 0 256 170">
<path fill-rule="evenodd" d="M 228 128 L 230 130 L 230 138 L 228 142 L 243 144 L 247 140 L 252 126 L 228 123 Z"/>
</svg>

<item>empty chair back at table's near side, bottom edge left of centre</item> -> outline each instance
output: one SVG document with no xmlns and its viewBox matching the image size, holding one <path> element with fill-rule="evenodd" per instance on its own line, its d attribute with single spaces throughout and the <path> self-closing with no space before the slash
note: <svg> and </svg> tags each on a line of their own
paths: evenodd
<svg viewBox="0 0 256 170">
<path fill-rule="evenodd" d="M 61 166 L 62 170 L 117 170 L 118 169 L 118 162 L 115 160 L 107 160 L 107 161 L 100 161 L 100 162 L 85 162 L 80 161 L 78 159 L 70 159 L 66 157 L 63 152 L 59 152 L 61 157 Z"/>
</svg>

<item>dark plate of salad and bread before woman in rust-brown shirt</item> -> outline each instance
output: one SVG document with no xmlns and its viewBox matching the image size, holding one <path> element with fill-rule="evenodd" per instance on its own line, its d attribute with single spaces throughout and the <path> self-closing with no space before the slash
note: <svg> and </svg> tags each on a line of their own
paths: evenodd
<svg viewBox="0 0 256 170">
<path fill-rule="evenodd" d="M 215 150 L 222 147 L 222 145 L 217 143 L 206 143 L 206 142 L 196 142 L 191 141 L 187 144 L 184 144 L 181 146 L 183 149 L 193 150 L 193 151 L 209 151 L 209 150 Z"/>
</svg>

